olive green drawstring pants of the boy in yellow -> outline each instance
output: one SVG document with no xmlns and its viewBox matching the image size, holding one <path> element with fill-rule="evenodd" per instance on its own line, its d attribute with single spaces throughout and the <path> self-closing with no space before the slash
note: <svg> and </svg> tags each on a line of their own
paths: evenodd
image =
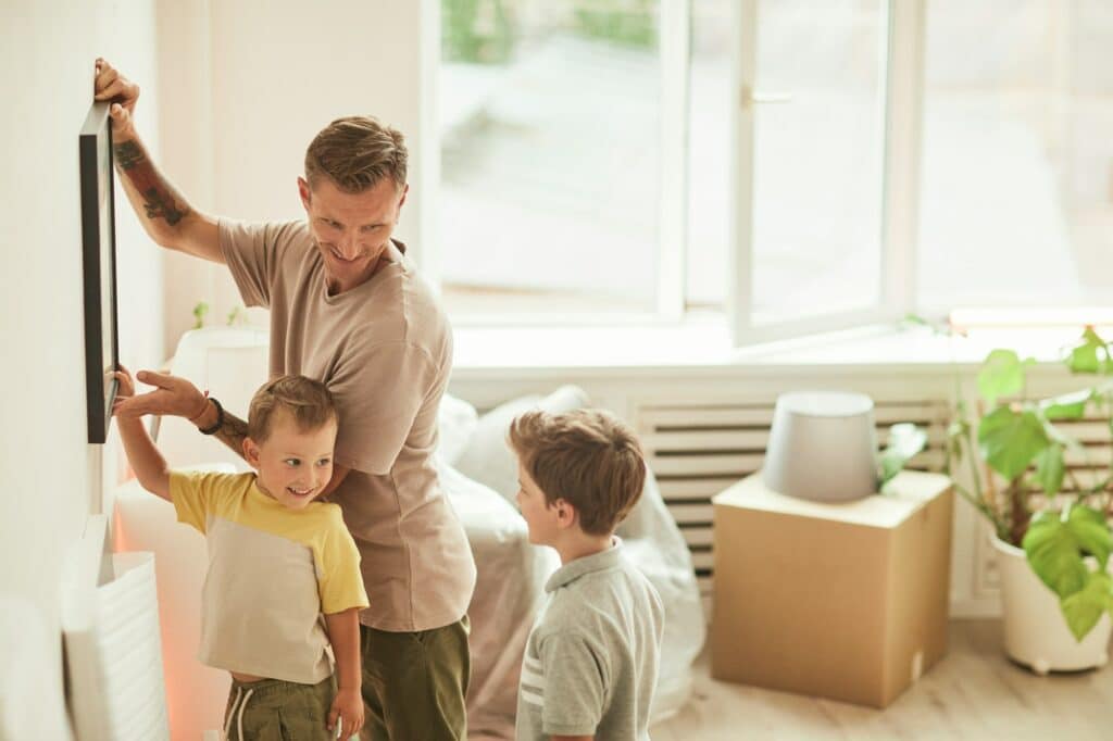
<svg viewBox="0 0 1113 741">
<path fill-rule="evenodd" d="M 333 741 L 325 723 L 335 694 L 332 676 L 316 684 L 234 679 L 224 711 L 228 741 Z"/>
</svg>

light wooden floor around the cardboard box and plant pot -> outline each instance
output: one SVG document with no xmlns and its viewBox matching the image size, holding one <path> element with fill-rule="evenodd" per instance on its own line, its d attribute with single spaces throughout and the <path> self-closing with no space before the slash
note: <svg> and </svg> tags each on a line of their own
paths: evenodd
<svg viewBox="0 0 1113 741">
<path fill-rule="evenodd" d="M 885 710 L 717 682 L 708 669 L 705 651 L 692 699 L 653 741 L 1113 739 L 1113 664 L 1036 676 L 1005 658 L 997 621 L 953 621 L 947 655 Z"/>
</svg>

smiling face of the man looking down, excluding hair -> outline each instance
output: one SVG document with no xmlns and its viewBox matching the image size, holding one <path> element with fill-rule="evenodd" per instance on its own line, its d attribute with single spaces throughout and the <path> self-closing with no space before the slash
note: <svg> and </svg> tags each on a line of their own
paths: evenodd
<svg viewBox="0 0 1113 741">
<path fill-rule="evenodd" d="M 297 179 L 297 187 L 324 260 L 328 293 L 344 293 L 367 280 L 391 241 L 410 186 L 398 188 L 383 178 L 352 194 L 321 177 L 312 189 L 304 178 Z"/>
</svg>

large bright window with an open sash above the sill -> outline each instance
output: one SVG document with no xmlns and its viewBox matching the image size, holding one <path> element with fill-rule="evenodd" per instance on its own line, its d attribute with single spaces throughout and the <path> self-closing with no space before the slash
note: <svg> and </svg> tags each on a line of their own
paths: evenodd
<svg viewBox="0 0 1113 741">
<path fill-rule="evenodd" d="M 457 319 L 1113 299 L 1103 0 L 440 1 Z"/>
</svg>

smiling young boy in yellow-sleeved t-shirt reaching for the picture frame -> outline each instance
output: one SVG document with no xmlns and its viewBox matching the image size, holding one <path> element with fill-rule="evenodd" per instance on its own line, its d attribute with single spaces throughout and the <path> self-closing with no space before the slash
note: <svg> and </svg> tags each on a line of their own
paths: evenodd
<svg viewBox="0 0 1113 741">
<path fill-rule="evenodd" d="M 130 374 L 116 377 L 119 396 L 131 396 Z M 139 417 L 117 422 L 139 483 L 207 536 L 198 658 L 232 673 L 227 739 L 357 733 L 358 613 L 367 606 L 359 554 L 339 506 L 314 502 L 332 476 L 337 414 L 328 389 L 284 376 L 255 394 L 244 457 L 256 473 L 169 471 Z"/>
</svg>

